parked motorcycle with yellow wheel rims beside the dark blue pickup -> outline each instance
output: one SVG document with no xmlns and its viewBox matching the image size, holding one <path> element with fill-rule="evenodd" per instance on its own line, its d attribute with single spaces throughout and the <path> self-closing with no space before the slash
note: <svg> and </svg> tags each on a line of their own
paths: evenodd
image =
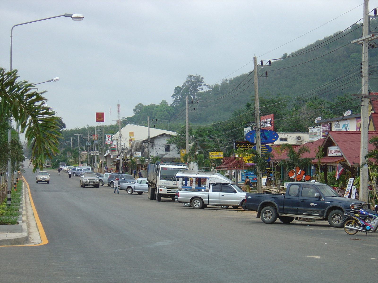
<svg viewBox="0 0 378 283">
<path fill-rule="evenodd" d="M 355 235 L 358 231 L 374 233 L 378 228 L 378 205 L 374 206 L 376 214 L 359 209 L 359 214 L 353 212 L 345 212 L 344 215 L 348 218 L 344 224 L 344 231 L 348 235 Z"/>
</svg>

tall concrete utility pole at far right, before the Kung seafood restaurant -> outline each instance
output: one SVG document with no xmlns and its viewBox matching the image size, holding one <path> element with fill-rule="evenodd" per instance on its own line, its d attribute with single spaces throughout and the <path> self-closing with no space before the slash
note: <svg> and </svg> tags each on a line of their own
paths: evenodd
<svg viewBox="0 0 378 283">
<path fill-rule="evenodd" d="M 376 17 L 376 11 L 374 11 Z M 361 145 L 360 145 L 360 171 L 359 171 L 359 199 L 362 201 L 369 201 L 368 190 L 368 167 L 362 166 L 366 162 L 365 155 L 367 154 L 367 148 L 369 145 L 369 41 L 378 36 L 374 34 L 369 35 L 369 0 L 364 0 L 364 21 L 362 28 L 362 37 L 353 40 L 352 43 L 362 44 L 362 88 L 361 95 Z"/>
</svg>

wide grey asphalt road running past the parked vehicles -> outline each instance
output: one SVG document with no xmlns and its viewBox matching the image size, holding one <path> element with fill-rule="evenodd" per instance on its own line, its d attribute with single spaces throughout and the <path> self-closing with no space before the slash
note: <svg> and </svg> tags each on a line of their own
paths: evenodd
<svg viewBox="0 0 378 283">
<path fill-rule="evenodd" d="M 79 177 L 56 171 L 50 184 L 36 184 L 30 169 L 25 177 L 49 243 L 0 248 L 1 282 L 376 281 L 378 233 L 267 225 L 240 209 L 80 188 Z"/>
</svg>

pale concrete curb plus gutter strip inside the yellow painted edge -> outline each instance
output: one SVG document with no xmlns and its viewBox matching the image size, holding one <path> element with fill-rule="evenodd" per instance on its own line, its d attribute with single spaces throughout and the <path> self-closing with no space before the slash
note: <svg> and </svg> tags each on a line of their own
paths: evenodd
<svg viewBox="0 0 378 283">
<path fill-rule="evenodd" d="M 29 198 L 28 186 L 25 181 L 22 180 L 22 224 L 21 221 L 19 225 L 22 225 L 22 229 L 19 227 L 18 232 L 14 232 L 14 225 L 2 225 L 4 226 L 13 226 L 7 229 L 9 232 L 4 232 L 0 230 L 0 246 L 15 246 L 15 245 L 24 245 L 24 246 L 33 246 L 39 245 L 42 243 L 41 237 L 39 235 L 39 230 L 37 227 L 36 219 L 34 217 L 33 208 Z"/>
</svg>

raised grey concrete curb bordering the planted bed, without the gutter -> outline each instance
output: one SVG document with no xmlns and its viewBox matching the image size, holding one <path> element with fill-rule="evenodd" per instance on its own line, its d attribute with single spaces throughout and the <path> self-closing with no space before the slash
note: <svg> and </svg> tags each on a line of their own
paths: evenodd
<svg viewBox="0 0 378 283">
<path fill-rule="evenodd" d="M 2 234 L 0 235 L 0 246 L 25 245 L 29 243 L 28 217 L 26 214 L 26 199 L 25 199 L 26 193 L 27 192 L 25 189 L 25 183 L 22 182 L 22 232 L 0 233 Z"/>
</svg>

